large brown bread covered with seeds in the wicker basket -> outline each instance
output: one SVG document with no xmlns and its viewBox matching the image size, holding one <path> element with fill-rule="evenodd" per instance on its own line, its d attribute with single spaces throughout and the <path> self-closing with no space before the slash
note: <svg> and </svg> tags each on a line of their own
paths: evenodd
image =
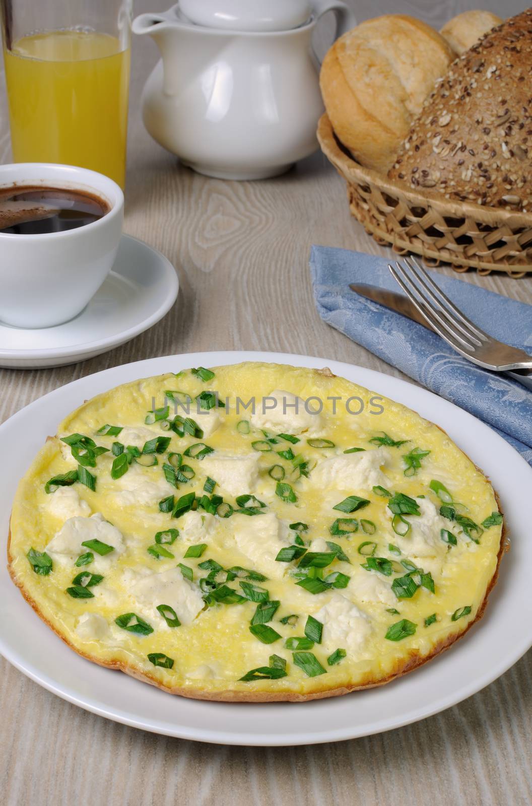
<svg viewBox="0 0 532 806">
<path fill-rule="evenodd" d="M 389 172 L 427 193 L 532 210 L 532 9 L 456 60 Z"/>
</svg>

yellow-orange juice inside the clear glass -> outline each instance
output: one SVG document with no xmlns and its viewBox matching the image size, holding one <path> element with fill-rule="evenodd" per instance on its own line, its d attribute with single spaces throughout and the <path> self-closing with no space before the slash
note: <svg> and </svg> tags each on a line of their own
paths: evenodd
<svg viewBox="0 0 532 806">
<path fill-rule="evenodd" d="M 123 187 L 130 51 L 85 31 L 24 36 L 4 50 L 15 162 L 58 162 Z"/>
</svg>

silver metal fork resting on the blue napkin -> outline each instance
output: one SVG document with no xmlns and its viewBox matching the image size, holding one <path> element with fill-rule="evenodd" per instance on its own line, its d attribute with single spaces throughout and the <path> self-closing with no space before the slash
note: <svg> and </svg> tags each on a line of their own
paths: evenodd
<svg viewBox="0 0 532 806">
<path fill-rule="evenodd" d="M 442 339 L 465 358 L 495 372 L 532 369 L 532 355 L 493 339 L 451 302 L 414 258 L 388 264 L 409 300 Z"/>
</svg>

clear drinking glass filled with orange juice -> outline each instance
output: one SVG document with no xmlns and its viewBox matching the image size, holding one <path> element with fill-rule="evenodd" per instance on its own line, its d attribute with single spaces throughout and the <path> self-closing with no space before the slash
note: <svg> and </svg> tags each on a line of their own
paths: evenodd
<svg viewBox="0 0 532 806">
<path fill-rule="evenodd" d="M 0 0 L 15 162 L 124 186 L 132 0 Z"/>
</svg>

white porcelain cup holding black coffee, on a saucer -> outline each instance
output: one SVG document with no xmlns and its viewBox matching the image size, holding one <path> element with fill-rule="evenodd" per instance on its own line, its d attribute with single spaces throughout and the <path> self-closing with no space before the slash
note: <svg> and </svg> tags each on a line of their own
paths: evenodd
<svg viewBox="0 0 532 806">
<path fill-rule="evenodd" d="M 102 201 L 101 217 L 73 229 L 0 231 L 0 322 L 41 328 L 73 319 L 109 274 L 123 225 L 123 192 L 87 168 L 47 163 L 0 165 L 6 189 L 64 189 Z"/>
</svg>

